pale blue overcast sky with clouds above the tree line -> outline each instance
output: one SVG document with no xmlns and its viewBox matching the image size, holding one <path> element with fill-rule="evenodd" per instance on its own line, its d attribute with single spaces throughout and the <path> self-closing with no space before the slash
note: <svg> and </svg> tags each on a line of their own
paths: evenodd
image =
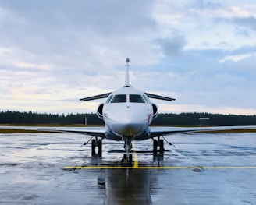
<svg viewBox="0 0 256 205">
<path fill-rule="evenodd" d="M 94 112 L 130 84 L 162 113 L 256 114 L 256 2 L 0 0 L 0 111 Z"/>
</svg>

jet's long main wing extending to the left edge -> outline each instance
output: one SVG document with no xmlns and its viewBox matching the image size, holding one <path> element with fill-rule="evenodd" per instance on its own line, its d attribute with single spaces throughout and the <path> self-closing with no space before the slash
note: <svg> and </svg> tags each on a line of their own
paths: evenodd
<svg viewBox="0 0 256 205">
<path fill-rule="evenodd" d="M 66 132 L 78 133 L 89 136 L 98 136 L 105 138 L 105 127 L 44 127 L 44 126 L 0 126 L 0 129 L 15 129 L 15 130 L 28 130 L 28 131 L 43 131 L 43 132 Z"/>
</svg>

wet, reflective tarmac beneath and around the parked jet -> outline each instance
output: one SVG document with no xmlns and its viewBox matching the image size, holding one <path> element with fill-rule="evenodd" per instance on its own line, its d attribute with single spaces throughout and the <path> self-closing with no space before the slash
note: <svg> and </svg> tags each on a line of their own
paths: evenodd
<svg viewBox="0 0 256 205">
<path fill-rule="evenodd" d="M 89 138 L 0 134 L 0 203 L 256 204 L 255 133 L 167 136 L 176 147 L 155 155 L 151 140 L 135 142 L 133 168 L 119 167 L 122 142 L 91 157 Z"/>
</svg>

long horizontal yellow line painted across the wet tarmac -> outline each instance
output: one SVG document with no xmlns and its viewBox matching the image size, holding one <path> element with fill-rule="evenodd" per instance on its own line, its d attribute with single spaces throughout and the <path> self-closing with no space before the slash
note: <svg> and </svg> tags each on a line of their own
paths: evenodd
<svg viewBox="0 0 256 205">
<path fill-rule="evenodd" d="M 256 167 L 139 167 L 135 165 L 133 167 L 108 167 L 108 166 L 81 166 L 81 167 L 64 167 L 64 169 L 123 169 L 123 168 L 137 168 L 137 169 L 256 169 Z"/>
</svg>

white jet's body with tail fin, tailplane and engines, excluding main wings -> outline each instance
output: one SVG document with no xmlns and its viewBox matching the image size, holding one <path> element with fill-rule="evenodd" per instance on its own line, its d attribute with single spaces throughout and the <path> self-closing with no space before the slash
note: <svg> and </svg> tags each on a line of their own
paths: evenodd
<svg viewBox="0 0 256 205">
<path fill-rule="evenodd" d="M 125 85 L 112 93 L 98 94 L 81 98 L 80 101 L 93 101 L 108 97 L 97 109 L 97 115 L 105 122 L 105 138 L 126 141 L 130 150 L 131 140 L 146 140 L 151 137 L 149 125 L 158 116 L 158 107 L 150 98 L 174 101 L 171 97 L 141 92 L 130 86 L 129 58 L 126 58 Z M 101 136 L 102 137 L 102 136 Z"/>
</svg>

